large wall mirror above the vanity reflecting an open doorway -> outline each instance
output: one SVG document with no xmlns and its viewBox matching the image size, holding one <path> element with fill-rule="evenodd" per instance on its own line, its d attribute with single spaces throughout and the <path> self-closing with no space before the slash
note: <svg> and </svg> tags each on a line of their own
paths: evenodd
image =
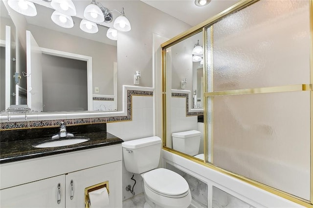
<svg viewBox="0 0 313 208">
<path fill-rule="evenodd" d="M 90 1 L 74 3 L 84 8 Z M 35 17 L 17 13 L 7 0 L 0 4 L 0 111 L 18 104 L 32 112 L 116 111 L 117 42 L 106 37 L 108 27 L 98 24 L 97 33 L 86 33 L 76 16 L 72 28 L 58 26 L 43 0 L 35 1 Z"/>
</svg>

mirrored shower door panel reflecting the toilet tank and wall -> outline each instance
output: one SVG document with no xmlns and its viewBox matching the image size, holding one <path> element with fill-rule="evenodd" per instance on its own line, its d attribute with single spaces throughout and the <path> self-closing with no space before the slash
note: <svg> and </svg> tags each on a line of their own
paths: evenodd
<svg viewBox="0 0 313 208">
<path fill-rule="evenodd" d="M 166 146 L 203 160 L 203 33 L 165 49 Z M 170 93 L 168 93 L 170 92 Z M 203 118 L 203 117 L 202 117 Z"/>
</svg>

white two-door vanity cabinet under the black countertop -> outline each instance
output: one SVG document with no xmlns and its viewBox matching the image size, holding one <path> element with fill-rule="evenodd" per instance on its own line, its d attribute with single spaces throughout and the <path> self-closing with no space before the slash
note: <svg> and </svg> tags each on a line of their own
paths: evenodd
<svg viewBox="0 0 313 208">
<path fill-rule="evenodd" d="M 84 208 L 85 188 L 108 181 L 108 207 L 121 208 L 121 160 L 118 144 L 1 164 L 0 207 Z"/>
</svg>

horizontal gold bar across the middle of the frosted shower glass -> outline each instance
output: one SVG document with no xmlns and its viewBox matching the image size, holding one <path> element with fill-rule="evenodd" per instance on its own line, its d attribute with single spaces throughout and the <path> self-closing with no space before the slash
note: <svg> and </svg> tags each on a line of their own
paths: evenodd
<svg viewBox="0 0 313 208">
<path fill-rule="evenodd" d="M 313 84 L 294 84 L 285 86 L 260 87 L 251 89 L 234 89 L 216 92 L 206 92 L 205 97 L 215 97 L 223 95 L 245 95 L 245 94 L 260 94 L 273 92 L 293 92 L 293 91 L 312 91 Z"/>
</svg>

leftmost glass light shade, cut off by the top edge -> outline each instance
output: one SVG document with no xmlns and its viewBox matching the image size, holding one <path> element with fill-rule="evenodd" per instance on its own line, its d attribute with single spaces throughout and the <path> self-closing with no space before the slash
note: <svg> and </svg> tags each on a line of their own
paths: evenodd
<svg viewBox="0 0 313 208">
<path fill-rule="evenodd" d="M 37 15 L 35 4 L 28 0 L 8 0 L 8 4 L 14 11 L 22 15 L 30 17 Z"/>
</svg>

